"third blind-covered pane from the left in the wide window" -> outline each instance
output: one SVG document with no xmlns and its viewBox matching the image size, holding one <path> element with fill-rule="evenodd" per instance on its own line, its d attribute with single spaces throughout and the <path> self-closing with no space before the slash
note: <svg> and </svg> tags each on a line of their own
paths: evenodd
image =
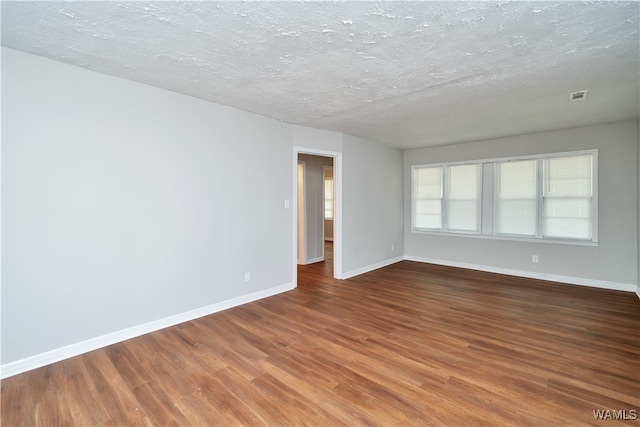
<svg viewBox="0 0 640 427">
<path fill-rule="evenodd" d="M 497 164 L 495 233 L 536 235 L 537 161 Z"/>
</svg>

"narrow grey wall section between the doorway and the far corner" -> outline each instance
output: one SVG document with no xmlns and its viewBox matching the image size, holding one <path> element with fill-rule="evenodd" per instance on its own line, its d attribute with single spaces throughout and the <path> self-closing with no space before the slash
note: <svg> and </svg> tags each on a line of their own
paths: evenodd
<svg viewBox="0 0 640 427">
<path fill-rule="evenodd" d="M 343 157 L 343 276 L 348 278 L 402 259 L 402 151 L 344 135 Z"/>
</svg>

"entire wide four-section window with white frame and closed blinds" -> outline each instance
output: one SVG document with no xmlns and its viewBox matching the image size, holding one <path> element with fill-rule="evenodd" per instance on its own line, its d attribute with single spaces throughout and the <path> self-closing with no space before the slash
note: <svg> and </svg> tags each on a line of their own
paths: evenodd
<svg viewBox="0 0 640 427">
<path fill-rule="evenodd" d="M 597 150 L 414 166 L 412 173 L 413 231 L 597 242 Z"/>
</svg>

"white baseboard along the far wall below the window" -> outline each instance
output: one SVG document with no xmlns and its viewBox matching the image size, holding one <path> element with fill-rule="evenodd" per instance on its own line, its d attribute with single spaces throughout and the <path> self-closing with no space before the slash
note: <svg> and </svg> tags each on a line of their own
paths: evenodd
<svg viewBox="0 0 640 427">
<path fill-rule="evenodd" d="M 428 264 L 446 265 L 448 267 L 467 268 L 470 270 L 486 271 L 488 273 L 506 274 L 508 276 L 526 277 L 529 279 L 548 280 L 551 282 L 568 283 L 571 285 L 590 286 L 594 288 L 612 289 L 616 291 L 633 292 L 636 286 L 630 283 L 610 282 L 608 280 L 587 279 L 584 277 L 562 276 L 558 274 L 538 273 L 535 271 L 515 270 L 512 268 L 492 267 L 487 265 L 469 264 L 466 262 L 445 261 L 441 259 L 422 258 L 405 255 L 407 261 L 423 262 Z"/>
</svg>

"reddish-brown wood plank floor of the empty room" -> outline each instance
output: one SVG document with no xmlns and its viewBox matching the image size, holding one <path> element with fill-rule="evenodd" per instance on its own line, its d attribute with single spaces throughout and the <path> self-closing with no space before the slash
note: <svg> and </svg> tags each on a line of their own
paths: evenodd
<svg viewBox="0 0 640 427">
<path fill-rule="evenodd" d="M 5 379 L 2 426 L 639 424 L 593 412 L 640 416 L 636 295 L 408 261 L 336 281 L 327 264 Z"/>
</svg>

